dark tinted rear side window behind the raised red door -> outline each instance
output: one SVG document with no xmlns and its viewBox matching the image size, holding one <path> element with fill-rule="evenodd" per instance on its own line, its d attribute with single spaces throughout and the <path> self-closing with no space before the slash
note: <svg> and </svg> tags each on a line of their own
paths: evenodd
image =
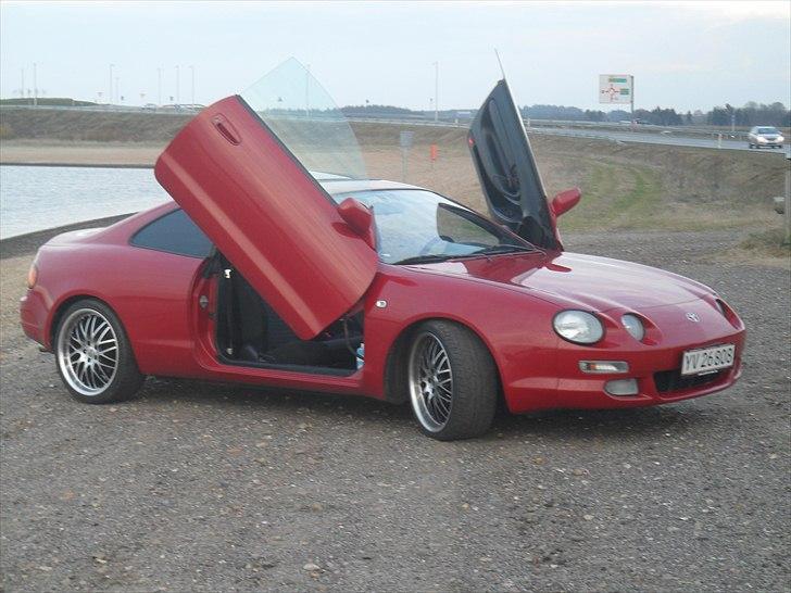
<svg viewBox="0 0 791 593">
<path fill-rule="evenodd" d="M 131 238 L 136 247 L 188 255 L 208 257 L 212 242 L 181 210 L 175 210 L 138 230 Z"/>
</svg>

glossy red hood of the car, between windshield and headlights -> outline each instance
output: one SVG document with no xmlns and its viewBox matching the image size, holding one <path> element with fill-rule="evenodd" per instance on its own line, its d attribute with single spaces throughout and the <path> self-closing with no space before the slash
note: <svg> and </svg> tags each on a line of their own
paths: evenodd
<svg viewBox="0 0 791 593">
<path fill-rule="evenodd" d="M 530 291 L 564 307 L 599 312 L 613 308 L 644 311 L 712 294 L 706 286 L 669 272 L 577 253 L 498 255 L 418 267 L 435 274 Z"/>
</svg>

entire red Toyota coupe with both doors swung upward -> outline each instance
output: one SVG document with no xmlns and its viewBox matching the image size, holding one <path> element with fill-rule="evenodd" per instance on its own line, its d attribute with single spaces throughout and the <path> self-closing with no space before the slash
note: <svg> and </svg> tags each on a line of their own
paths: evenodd
<svg viewBox="0 0 791 593">
<path fill-rule="evenodd" d="M 579 191 L 547 200 L 504 80 L 468 136 L 494 222 L 332 171 L 331 151 L 311 173 L 293 138 L 325 116 L 337 138 L 337 113 L 267 92 L 205 108 L 165 149 L 175 203 L 39 250 L 22 326 L 77 400 L 129 399 L 147 375 L 367 395 L 451 440 L 485 432 L 501 398 L 645 406 L 739 377 L 744 326 L 713 290 L 563 251 Z"/>
</svg>

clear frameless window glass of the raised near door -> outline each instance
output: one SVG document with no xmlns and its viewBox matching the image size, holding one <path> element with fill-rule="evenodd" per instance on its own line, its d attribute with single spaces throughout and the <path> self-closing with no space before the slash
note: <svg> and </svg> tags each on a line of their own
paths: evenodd
<svg viewBox="0 0 791 593">
<path fill-rule="evenodd" d="M 368 178 L 342 111 L 296 59 L 269 72 L 241 98 L 314 177 L 314 172 L 323 172 Z"/>
</svg>

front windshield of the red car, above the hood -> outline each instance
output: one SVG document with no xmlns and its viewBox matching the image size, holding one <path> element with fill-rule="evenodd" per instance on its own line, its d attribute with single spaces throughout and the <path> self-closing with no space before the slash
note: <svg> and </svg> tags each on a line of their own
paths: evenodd
<svg viewBox="0 0 791 593">
<path fill-rule="evenodd" d="M 475 212 L 430 191 L 390 189 L 332 198 L 340 203 L 350 197 L 372 209 L 379 258 L 388 264 L 535 250 Z"/>
</svg>

